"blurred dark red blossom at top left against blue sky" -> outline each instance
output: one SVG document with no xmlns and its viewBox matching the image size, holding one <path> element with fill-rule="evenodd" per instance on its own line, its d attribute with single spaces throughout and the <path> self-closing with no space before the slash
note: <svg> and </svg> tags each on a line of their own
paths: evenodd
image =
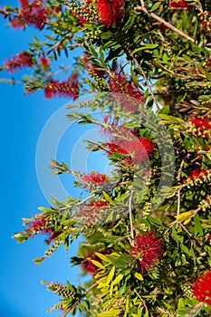
<svg viewBox="0 0 211 317">
<path fill-rule="evenodd" d="M 14 29 L 24 27 L 25 24 L 33 25 L 38 30 L 42 30 L 49 14 L 47 8 L 43 5 L 43 0 L 19 0 L 21 8 L 19 14 L 11 20 Z"/>
</svg>

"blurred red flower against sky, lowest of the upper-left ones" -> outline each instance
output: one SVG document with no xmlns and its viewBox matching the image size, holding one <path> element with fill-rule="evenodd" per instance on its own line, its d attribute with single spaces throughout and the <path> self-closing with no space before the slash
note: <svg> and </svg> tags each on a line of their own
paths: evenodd
<svg viewBox="0 0 211 317">
<path fill-rule="evenodd" d="M 67 81 L 49 81 L 44 85 L 44 96 L 47 99 L 53 97 L 66 97 L 76 100 L 79 95 L 79 86 L 76 79 L 70 78 Z"/>
</svg>

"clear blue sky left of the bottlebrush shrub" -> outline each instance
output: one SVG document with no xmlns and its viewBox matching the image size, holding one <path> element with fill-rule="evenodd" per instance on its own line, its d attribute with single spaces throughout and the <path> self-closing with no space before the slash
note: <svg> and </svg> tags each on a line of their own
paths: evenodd
<svg viewBox="0 0 211 317">
<path fill-rule="evenodd" d="M 17 5 L 17 2 L 2 0 L 0 5 Z M 36 34 L 33 28 L 24 33 L 21 30 L 6 28 L 3 19 L 0 19 L 0 30 L 1 64 L 6 57 L 23 51 L 26 43 L 32 41 L 32 34 Z M 9 77 L 6 72 L 0 73 L 0 78 Z M 66 280 L 69 280 L 71 283 L 78 283 L 78 271 L 72 269 L 69 264 L 71 255 L 75 255 L 77 244 L 71 246 L 69 254 L 61 248 L 43 264 L 36 266 L 32 260 L 44 253 L 43 237 L 35 236 L 26 243 L 17 245 L 11 236 L 14 232 L 23 230 L 22 217 L 33 216 L 37 212 L 37 207 L 49 206 L 36 177 L 35 152 L 46 121 L 66 101 L 46 101 L 43 91 L 24 96 L 24 89 L 19 84 L 12 87 L 8 83 L 0 82 L 0 90 L 3 217 L 0 225 L 0 316 L 54 317 L 58 312 L 48 314 L 46 309 L 57 303 L 58 297 L 46 291 L 40 281 L 66 283 Z M 72 145 L 75 142 L 72 133 L 75 131 L 70 129 L 64 134 L 57 153 L 58 159 L 67 163 L 70 161 Z M 89 160 L 95 164 L 92 159 Z M 43 164 L 46 166 L 47 162 Z M 104 164 L 105 160 L 102 161 L 102 171 L 105 171 Z M 62 179 L 69 193 L 76 193 L 72 189 L 71 179 Z M 57 193 L 53 194 L 56 196 Z"/>
</svg>

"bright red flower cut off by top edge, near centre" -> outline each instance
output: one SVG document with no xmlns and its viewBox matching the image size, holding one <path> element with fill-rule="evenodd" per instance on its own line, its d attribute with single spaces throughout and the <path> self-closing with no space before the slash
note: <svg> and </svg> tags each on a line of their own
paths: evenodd
<svg viewBox="0 0 211 317">
<path fill-rule="evenodd" d="M 124 14 L 124 0 L 96 0 L 101 23 L 106 27 L 116 25 Z"/>
</svg>

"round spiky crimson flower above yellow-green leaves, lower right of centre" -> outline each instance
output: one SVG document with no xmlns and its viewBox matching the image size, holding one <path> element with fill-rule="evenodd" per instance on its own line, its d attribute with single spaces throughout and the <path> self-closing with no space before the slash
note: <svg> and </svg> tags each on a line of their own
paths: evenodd
<svg viewBox="0 0 211 317">
<path fill-rule="evenodd" d="M 162 256 L 161 241 L 150 231 L 146 235 L 139 234 L 135 237 L 129 255 L 139 261 L 141 272 L 148 271 Z"/>
</svg>

